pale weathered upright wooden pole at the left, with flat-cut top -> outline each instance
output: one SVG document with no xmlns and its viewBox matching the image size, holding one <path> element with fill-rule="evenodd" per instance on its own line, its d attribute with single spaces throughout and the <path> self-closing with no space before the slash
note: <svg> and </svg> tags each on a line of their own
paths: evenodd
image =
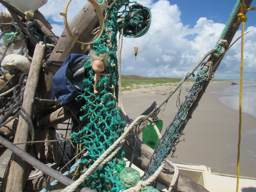
<svg viewBox="0 0 256 192">
<path fill-rule="evenodd" d="M 27 78 L 27 83 L 24 91 L 24 99 L 22 107 L 25 109 L 27 114 L 31 117 L 32 105 L 34 103 L 36 87 L 38 84 L 38 77 L 40 68 L 43 62 L 43 56 L 45 52 L 45 45 L 43 42 L 39 42 L 36 45 L 34 56 L 32 59 L 31 67 L 29 70 L 29 75 Z M 23 143 L 28 141 L 29 138 L 29 125 L 20 116 L 18 121 L 18 126 L 14 138 L 15 143 Z M 21 150 L 27 151 L 27 144 L 18 145 Z M 29 176 L 29 171 L 27 170 L 27 163 L 23 161 L 16 154 L 11 156 L 11 165 L 9 169 L 8 178 L 4 178 L 2 190 L 22 192 L 25 188 L 25 183 L 27 182 L 27 177 Z M 8 182 L 7 182 L 8 180 Z"/>
</svg>

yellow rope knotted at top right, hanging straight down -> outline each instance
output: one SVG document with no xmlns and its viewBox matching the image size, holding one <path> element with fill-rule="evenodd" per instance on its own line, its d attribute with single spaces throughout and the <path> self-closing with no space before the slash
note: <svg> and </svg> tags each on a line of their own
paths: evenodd
<svg viewBox="0 0 256 192">
<path fill-rule="evenodd" d="M 245 34 L 245 22 L 247 17 L 245 12 L 249 10 L 255 10 L 253 8 L 246 8 L 245 0 L 240 5 L 240 13 L 238 14 L 238 20 L 233 26 L 236 26 L 238 22 L 242 23 L 242 36 L 241 36 L 241 66 L 240 66 L 240 93 L 239 93 L 239 130 L 238 130 L 238 150 L 237 150 L 237 179 L 236 179 L 236 192 L 239 187 L 239 175 L 240 175 L 240 144 L 241 144 L 241 127 L 242 127 L 242 93 L 243 93 L 243 52 L 244 52 L 244 34 Z"/>
</svg>

